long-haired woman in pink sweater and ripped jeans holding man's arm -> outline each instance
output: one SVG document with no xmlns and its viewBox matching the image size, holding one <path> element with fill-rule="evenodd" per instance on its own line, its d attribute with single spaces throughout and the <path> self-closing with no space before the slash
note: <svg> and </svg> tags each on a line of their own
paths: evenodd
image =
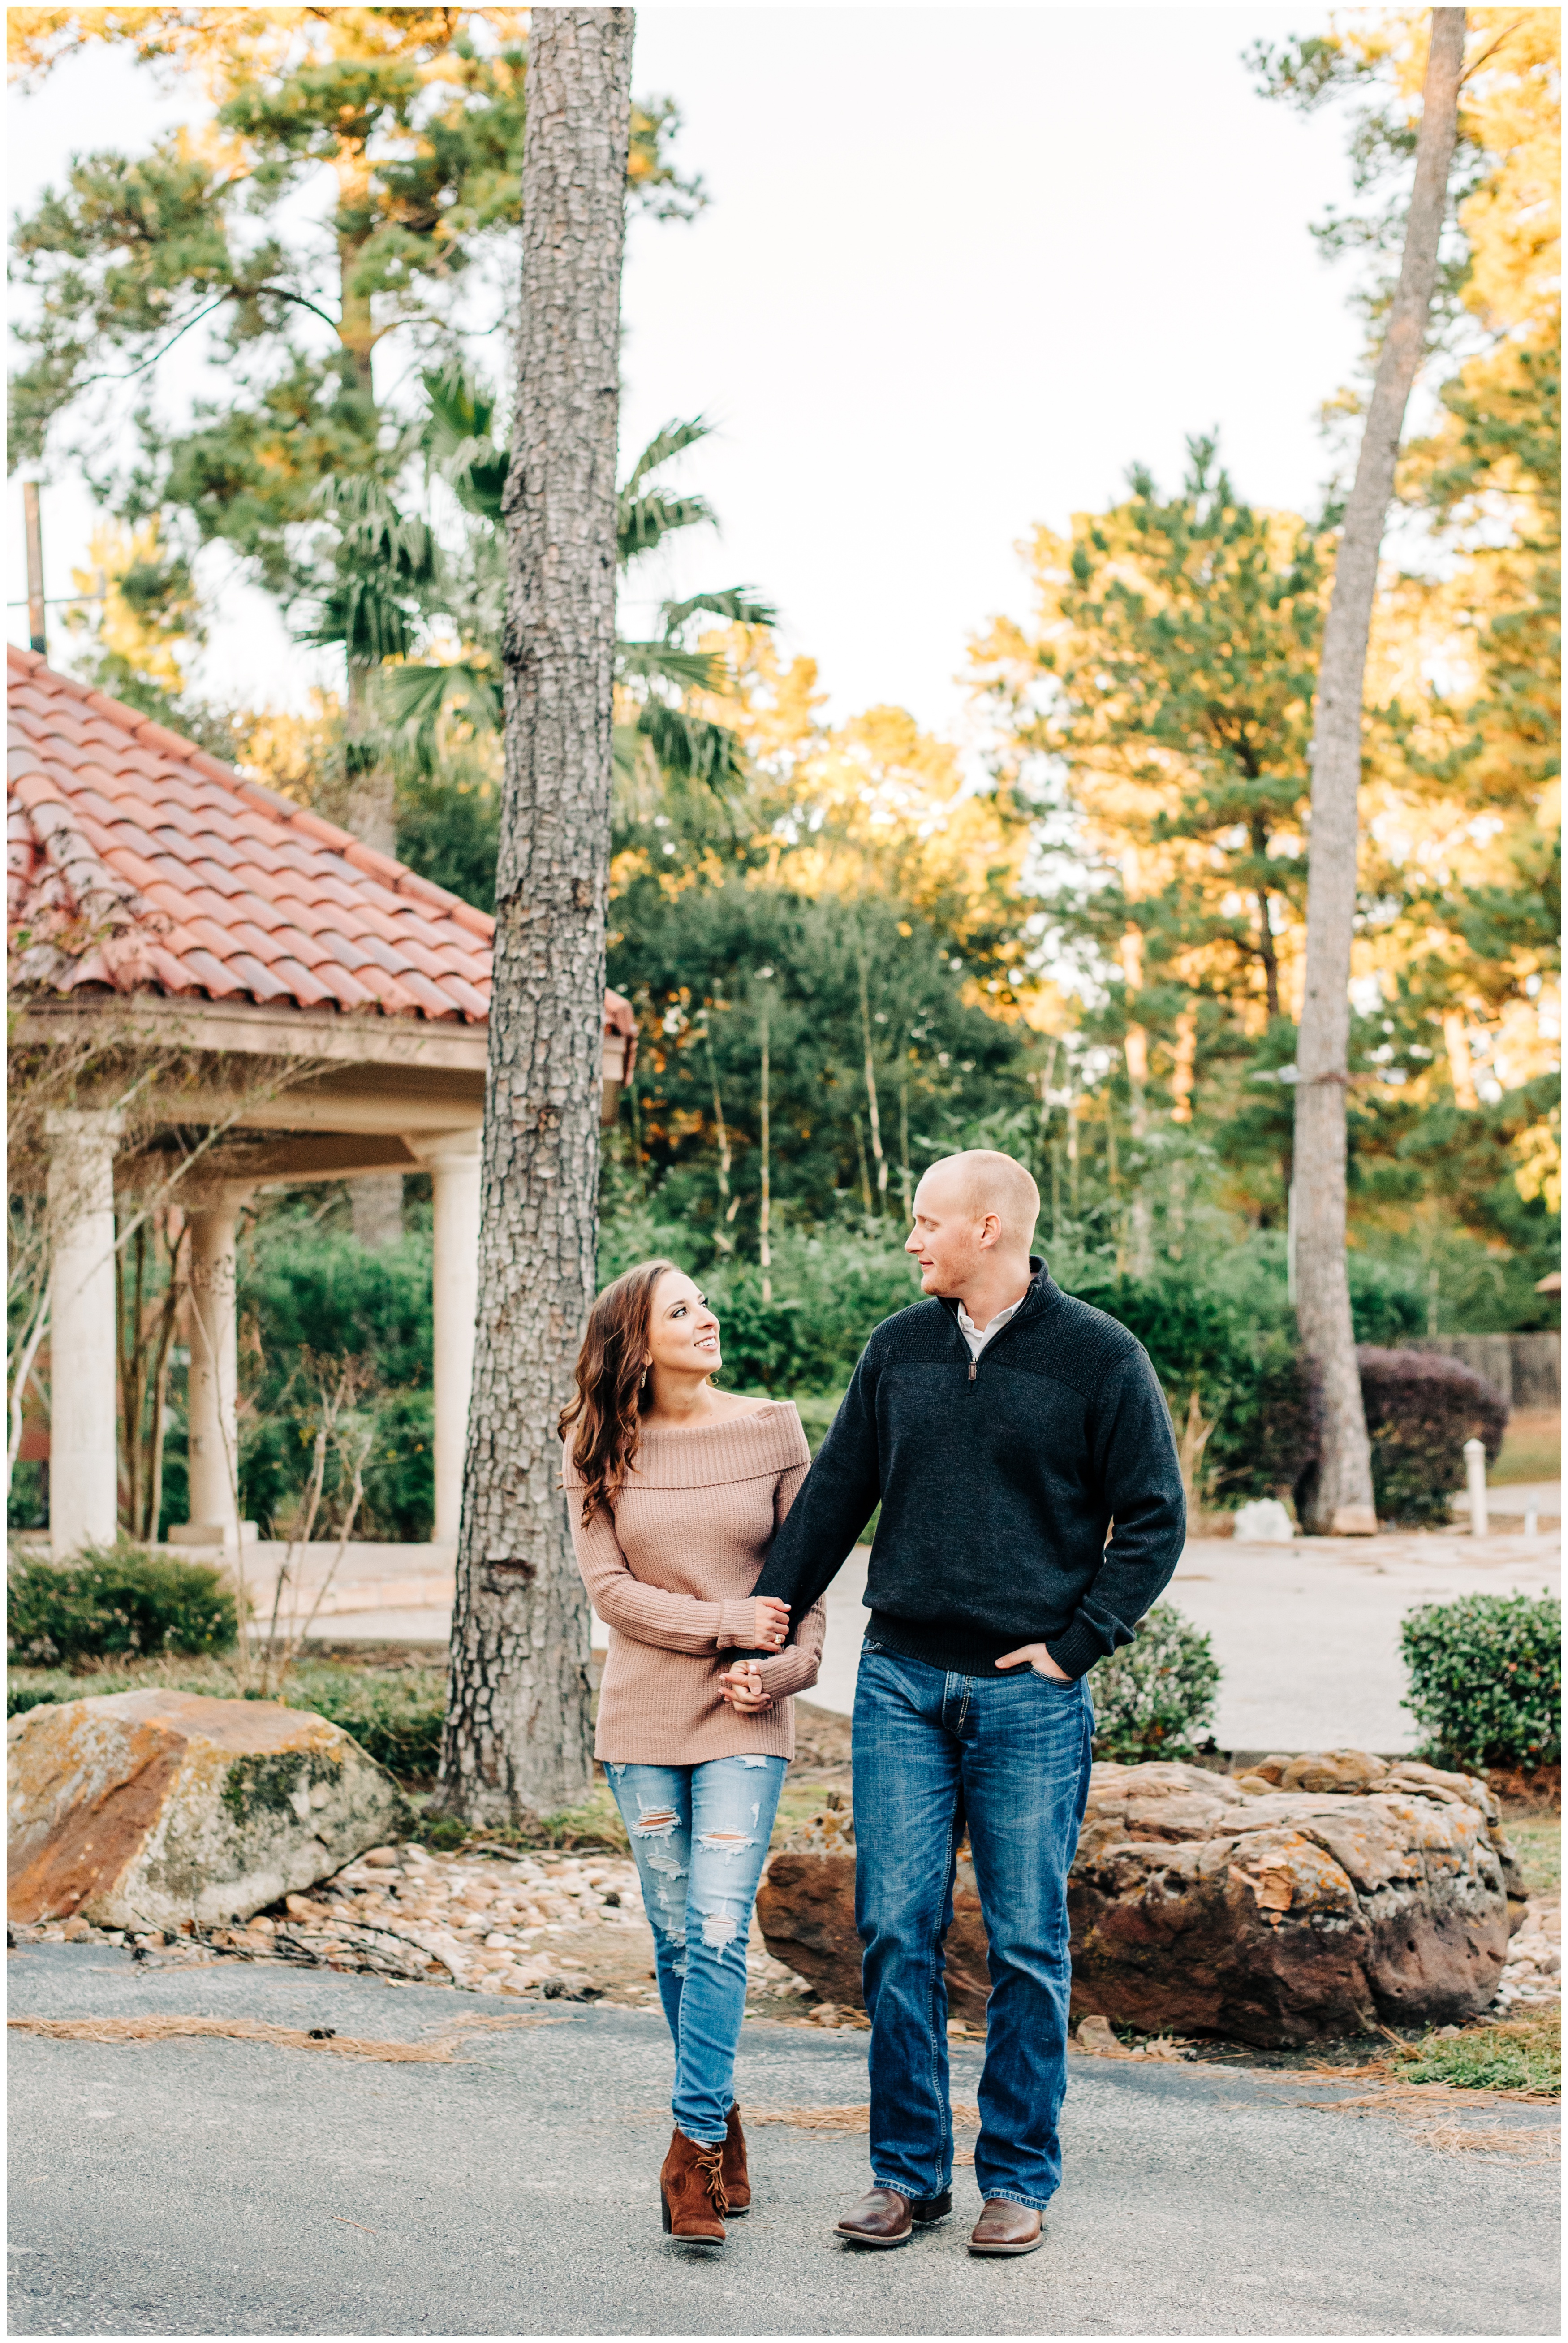
<svg viewBox="0 0 1568 2343">
<path fill-rule="evenodd" d="M 609 1626 L 593 1753 L 626 1821 L 675 2036 L 663 2226 L 724 2242 L 745 2212 L 731 2097 L 745 1940 L 795 1755 L 792 1692 L 816 1685 L 825 1612 L 790 1645 L 755 1600 L 762 1558 L 811 1455 L 785 1401 L 713 1389 L 720 1321 L 673 1261 L 642 1261 L 595 1300 L 563 1408 L 577 1565 Z M 722 1649 L 766 1649 L 717 1675 Z"/>
</svg>

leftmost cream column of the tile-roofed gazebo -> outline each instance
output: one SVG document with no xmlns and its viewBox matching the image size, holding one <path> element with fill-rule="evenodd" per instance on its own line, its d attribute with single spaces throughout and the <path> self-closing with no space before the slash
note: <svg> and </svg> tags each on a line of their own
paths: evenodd
<svg viewBox="0 0 1568 2343">
<path fill-rule="evenodd" d="M 49 1549 L 108 1546 L 120 1521 L 115 1146 L 124 1118 L 56 1108 L 49 1139 Z"/>
</svg>

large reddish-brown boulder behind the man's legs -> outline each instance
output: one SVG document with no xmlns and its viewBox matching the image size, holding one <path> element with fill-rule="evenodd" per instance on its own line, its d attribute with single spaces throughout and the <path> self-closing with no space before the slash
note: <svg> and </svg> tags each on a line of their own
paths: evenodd
<svg viewBox="0 0 1568 2343">
<path fill-rule="evenodd" d="M 1474 2017 L 1523 1919 L 1498 1802 L 1467 1774 L 1364 1750 L 1268 1757 L 1230 1781 L 1097 1764 L 1069 1879 L 1073 2010 L 1146 2031 L 1303 2043 Z M 830 2001 L 860 1999 L 848 1813 L 771 1858 L 766 1947 Z M 959 1858 L 947 1985 L 984 2015 L 980 1895 Z"/>
</svg>

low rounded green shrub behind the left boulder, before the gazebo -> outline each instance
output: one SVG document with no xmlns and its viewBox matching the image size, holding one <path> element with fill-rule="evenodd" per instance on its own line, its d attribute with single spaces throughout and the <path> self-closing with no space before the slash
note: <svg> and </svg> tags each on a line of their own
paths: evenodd
<svg viewBox="0 0 1568 2343">
<path fill-rule="evenodd" d="M 7 1570 L 12 1659 L 68 1666 L 117 1654 L 227 1652 L 239 1633 L 234 1589 L 211 1563 L 183 1563 L 120 1539 L 70 1563 L 40 1556 Z"/>
</svg>

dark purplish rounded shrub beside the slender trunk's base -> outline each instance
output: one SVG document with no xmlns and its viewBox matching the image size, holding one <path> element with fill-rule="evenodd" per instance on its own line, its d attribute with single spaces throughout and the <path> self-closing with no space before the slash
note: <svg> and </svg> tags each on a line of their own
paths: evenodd
<svg viewBox="0 0 1568 2343">
<path fill-rule="evenodd" d="M 1465 1441 L 1486 1441 L 1486 1462 L 1498 1462 L 1507 1399 L 1441 1352 L 1362 1347 L 1355 1359 L 1378 1518 L 1441 1528 L 1453 1490 L 1465 1485 Z"/>
</svg>

